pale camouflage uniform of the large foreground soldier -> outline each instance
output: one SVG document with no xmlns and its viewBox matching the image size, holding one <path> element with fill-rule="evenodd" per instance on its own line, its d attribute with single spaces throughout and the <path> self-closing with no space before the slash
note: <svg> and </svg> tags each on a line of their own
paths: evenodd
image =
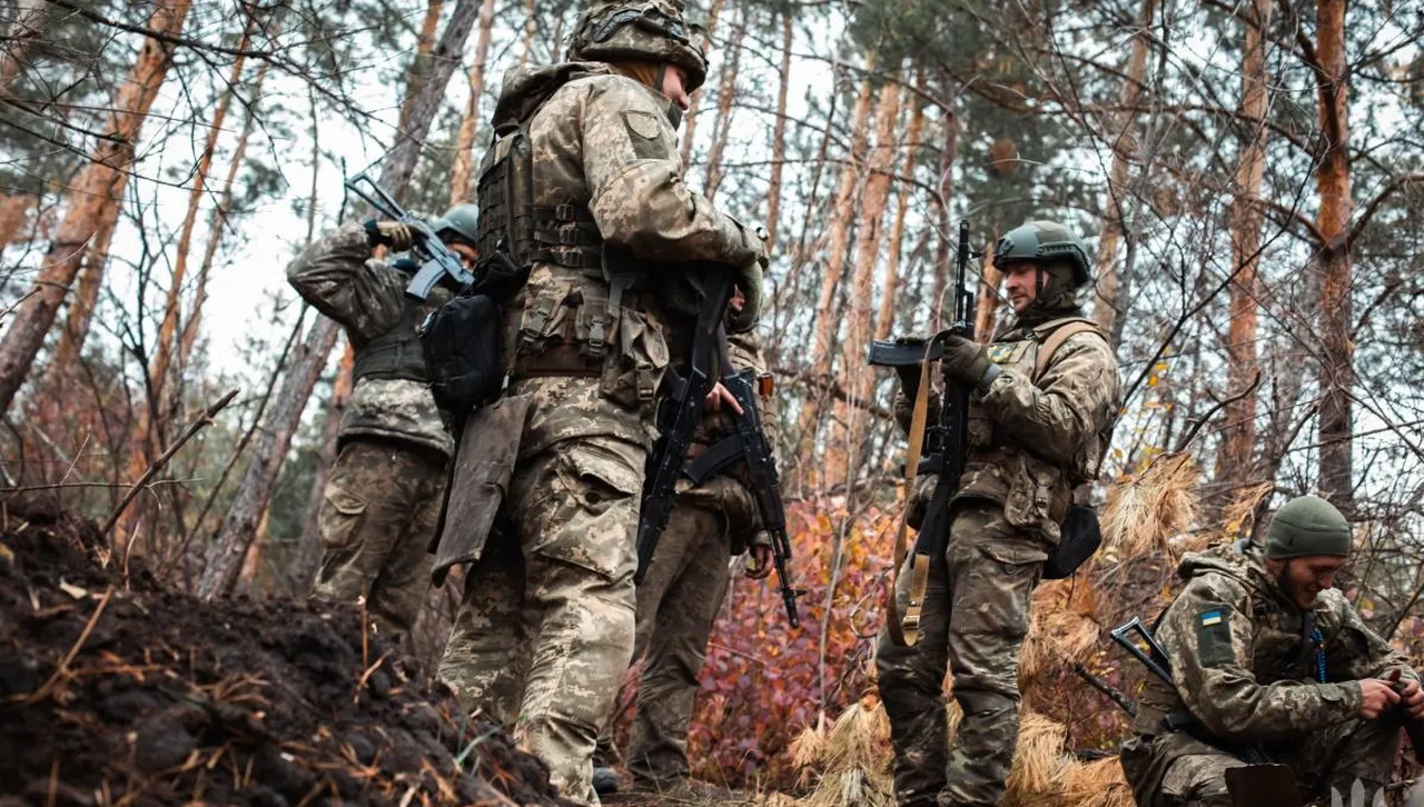
<svg viewBox="0 0 1424 807">
<path fill-rule="evenodd" d="M 553 248 L 506 302 L 513 373 L 500 406 L 528 411 L 439 672 L 468 707 L 511 726 L 565 797 L 588 804 L 598 803 L 594 743 L 634 648 L 634 537 L 668 366 L 662 322 L 686 315 L 661 293 L 684 269 L 654 262 L 745 266 L 760 253 L 755 235 L 682 182 L 671 110 L 605 64 L 564 63 L 513 71 L 494 120 L 527 120 L 535 204 L 588 211 L 605 249 L 627 249 L 659 286 L 634 286 L 609 310 L 602 273 L 558 263 Z M 609 322 L 607 352 L 594 359 L 600 322 Z"/>
</svg>

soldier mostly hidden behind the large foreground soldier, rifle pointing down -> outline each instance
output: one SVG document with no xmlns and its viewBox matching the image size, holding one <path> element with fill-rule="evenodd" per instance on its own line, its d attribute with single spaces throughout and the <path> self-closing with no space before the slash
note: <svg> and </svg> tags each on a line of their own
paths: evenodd
<svg viewBox="0 0 1424 807">
<path fill-rule="evenodd" d="M 733 299 L 733 306 L 736 299 Z M 733 367 L 766 371 L 753 333 L 728 340 Z M 775 399 L 763 399 L 762 420 L 776 423 Z M 698 430 L 689 460 L 729 434 L 723 416 L 709 413 Z M 775 445 L 775 437 L 768 434 Z M 736 465 L 702 485 L 678 494 L 678 504 L 648 572 L 638 586 L 634 660 L 646 658 L 638 686 L 638 712 L 632 724 L 628 771 L 637 790 L 728 797 L 689 779 L 688 723 L 698 693 L 698 673 L 706 658 L 712 623 L 731 582 L 728 557 L 750 551 L 746 576 L 763 579 L 772 571 L 770 539 L 760 527 L 756 501 L 738 478 Z M 611 742 L 600 739 L 605 760 Z M 617 790 L 608 767 L 595 770 L 600 793 Z"/>
</svg>

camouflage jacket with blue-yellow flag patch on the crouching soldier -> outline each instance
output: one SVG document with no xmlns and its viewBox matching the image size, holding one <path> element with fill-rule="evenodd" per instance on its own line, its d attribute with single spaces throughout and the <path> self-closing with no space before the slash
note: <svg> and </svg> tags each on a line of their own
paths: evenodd
<svg viewBox="0 0 1424 807">
<path fill-rule="evenodd" d="M 1176 686 L 1166 692 L 1159 680 L 1148 682 L 1138 733 L 1159 733 L 1155 720 L 1186 709 L 1226 743 L 1290 740 L 1358 717 L 1360 679 L 1394 668 L 1417 677 L 1339 589 L 1300 609 L 1257 549 L 1188 554 L 1178 574 L 1186 586 L 1155 631 Z M 1317 650 L 1324 652 L 1323 676 Z"/>
</svg>

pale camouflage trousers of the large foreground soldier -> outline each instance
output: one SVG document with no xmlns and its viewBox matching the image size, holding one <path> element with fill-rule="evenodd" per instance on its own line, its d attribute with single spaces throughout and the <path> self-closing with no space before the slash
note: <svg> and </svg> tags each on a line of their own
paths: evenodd
<svg viewBox="0 0 1424 807">
<path fill-rule="evenodd" d="M 638 414 L 555 381 L 587 423 Z M 538 413 L 531 420 L 538 421 Z M 538 441 L 535 441 L 538 444 Z M 504 517 L 466 575 L 439 677 L 508 726 L 562 796 L 598 804 L 592 753 L 634 646 L 634 539 L 648 448 L 585 431 L 523 454 Z"/>
</svg>

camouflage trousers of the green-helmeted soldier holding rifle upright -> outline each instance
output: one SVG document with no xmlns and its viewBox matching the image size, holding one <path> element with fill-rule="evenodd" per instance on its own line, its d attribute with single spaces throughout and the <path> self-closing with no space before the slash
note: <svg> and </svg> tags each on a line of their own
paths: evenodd
<svg viewBox="0 0 1424 807">
<path fill-rule="evenodd" d="M 883 629 L 877 649 L 900 807 L 998 804 L 1018 742 L 1018 652 L 1047 547 L 1005 522 L 998 504 L 954 507 L 946 554 L 930 564 L 920 640 L 900 648 Z M 896 589 L 901 613 L 911 562 Z M 948 749 L 946 669 L 964 710 Z"/>
</svg>

